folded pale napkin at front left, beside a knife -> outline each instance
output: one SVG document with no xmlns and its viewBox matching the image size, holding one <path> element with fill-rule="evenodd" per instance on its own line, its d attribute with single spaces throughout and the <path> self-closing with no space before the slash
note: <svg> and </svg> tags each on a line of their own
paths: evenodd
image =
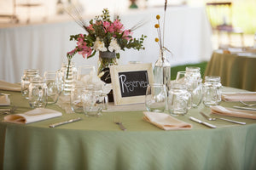
<svg viewBox="0 0 256 170">
<path fill-rule="evenodd" d="M 4 116 L 3 122 L 27 124 L 31 122 L 43 121 L 45 119 L 53 118 L 56 116 L 62 116 L 62 113 L 50 109 L 37 108 L 25 113 Z"/>
</svg>

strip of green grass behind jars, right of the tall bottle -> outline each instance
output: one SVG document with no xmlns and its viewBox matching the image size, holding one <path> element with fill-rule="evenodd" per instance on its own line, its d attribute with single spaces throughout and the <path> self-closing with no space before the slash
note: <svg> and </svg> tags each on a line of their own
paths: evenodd
<svg viewBox="0 0 256 170">
<path fill-rule="evenodd" d="M 201 68 L 201 77 L 204 77 L 205 71 L 207 69 L 207 61 L 198 64 L 188 64 L 188 65 L 177 65 L 171 67 L 171 80 L 175 80 L 177 76 L 177 71 L 186 71 L 187 66 L 197 66 Z"/>
</svg>

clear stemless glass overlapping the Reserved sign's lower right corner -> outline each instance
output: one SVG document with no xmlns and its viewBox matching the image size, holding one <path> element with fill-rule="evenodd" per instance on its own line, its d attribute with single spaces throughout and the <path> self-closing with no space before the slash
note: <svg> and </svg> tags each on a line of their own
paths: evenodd
<svg viewBox="0 0 256 170">
<path fill-rule="evenodd" d="M 163 112 L 166 109 L 166 85 L 148 84 L 145 105 L 148 111 Z"/>
</svg>

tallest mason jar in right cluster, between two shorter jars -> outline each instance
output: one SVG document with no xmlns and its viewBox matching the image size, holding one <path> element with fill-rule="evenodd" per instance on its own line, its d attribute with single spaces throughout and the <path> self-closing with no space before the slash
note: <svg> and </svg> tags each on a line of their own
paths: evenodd
<svg viewBox="0 0 256 170">
<path fill-rule="evenodd" d="M 192 107 L 197 107 L 202 99 L 202 79 L 199 67 L 186 67 L 185 83 L 192 95 Z"/>
</svg>

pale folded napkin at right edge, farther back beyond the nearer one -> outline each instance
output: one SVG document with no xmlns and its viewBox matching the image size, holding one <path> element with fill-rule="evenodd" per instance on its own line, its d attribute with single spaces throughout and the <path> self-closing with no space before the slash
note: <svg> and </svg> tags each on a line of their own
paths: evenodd
<svg viewBox="0 0 256 170">
<path fill-rule="evenodd" d="M 221 98 L 224 101 L 256 101 L 256 92 L 221 94 Z"/>
</svg>

